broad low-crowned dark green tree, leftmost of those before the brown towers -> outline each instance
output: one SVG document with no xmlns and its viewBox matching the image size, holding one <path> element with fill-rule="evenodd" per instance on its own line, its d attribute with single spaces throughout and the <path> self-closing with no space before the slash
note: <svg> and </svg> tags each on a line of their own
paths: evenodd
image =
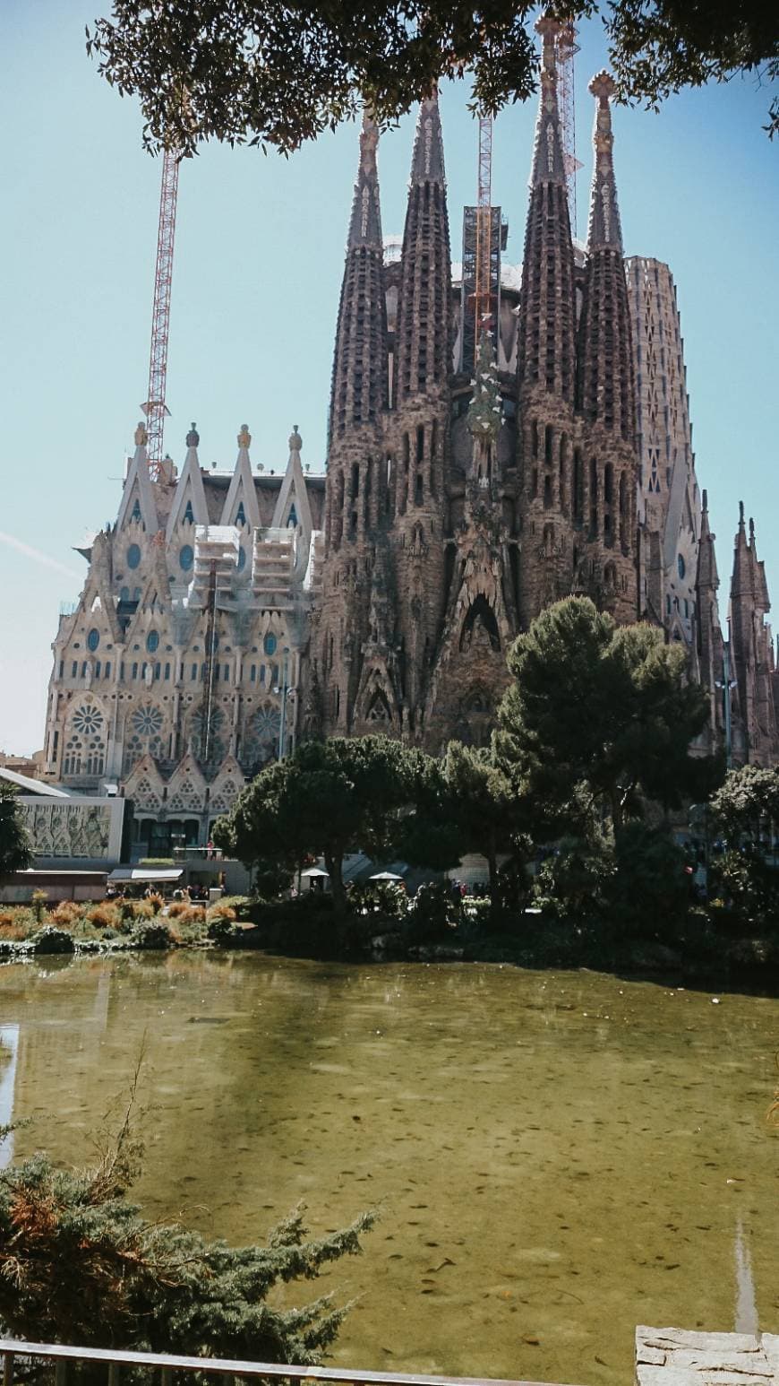
<svg viewBox="0 0 779 1386">
<path fill-rule="evenodd" d="M 214 841 L 246 865 L 324 857 L 333 906 L 343 912 L 345 854 L 354 847 L 375 859 L 393 854 L 423 761 L 387 736 L 306 742 L 257 775 L 214 825 Z"/>
</svg>

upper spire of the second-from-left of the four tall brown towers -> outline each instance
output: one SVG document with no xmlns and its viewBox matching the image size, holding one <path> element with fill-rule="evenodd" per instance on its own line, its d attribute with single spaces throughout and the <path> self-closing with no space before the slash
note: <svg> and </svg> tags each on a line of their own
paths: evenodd
<svg viewBox="0 0 779 1386">
<path fill-rule="evenodd" d="M 419 107 L 403 233 L 394 403 L 446 387 L 451 371 L 451 256 L 437 97 Z"/>
</svg>

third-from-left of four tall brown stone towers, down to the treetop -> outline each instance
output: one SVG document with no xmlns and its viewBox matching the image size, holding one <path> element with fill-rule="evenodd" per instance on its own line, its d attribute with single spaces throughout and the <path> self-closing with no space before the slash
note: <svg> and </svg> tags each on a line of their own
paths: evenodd
<svg viewBox="0 0 779 1386">
<path fill-rule="evenodd" d="M 558 105 L 555 37 L 542 15 L 541 93 L 519 313 L 520 624 L 571 590 L 574 567 L 576 290 Z"/>
</svg>

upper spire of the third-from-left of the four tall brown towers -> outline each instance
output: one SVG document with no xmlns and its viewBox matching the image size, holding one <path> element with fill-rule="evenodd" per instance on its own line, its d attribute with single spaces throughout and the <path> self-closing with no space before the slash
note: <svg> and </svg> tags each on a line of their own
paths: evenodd
<svg viewBox="0 0 779 1386">
<path fill-rule="evenodd" d="M 542 42 L 541 93 L 524 231 L 519 384 L 526 395 L 535 387 L 573 405 L 576 295 L 555 67 L 559 25 L 541 15 L 535 29 Z"/>
</svg>

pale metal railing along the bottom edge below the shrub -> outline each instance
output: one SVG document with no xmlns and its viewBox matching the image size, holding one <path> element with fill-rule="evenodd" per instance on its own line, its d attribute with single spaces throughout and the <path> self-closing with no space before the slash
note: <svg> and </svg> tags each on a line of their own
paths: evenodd
<svg viewBox="0 0 779 1386">
<path fill-rule="evenodd" d="M 509 1382 L 484 1376 L 415 1376 L 392 1372 L 351 1372 L 336 1367 L 295 1367 L 289 1362 L 239 1362 L 223 1357 L 176 1357 L 166 1353 L 125 1353 L 105 1347 L 69 1347 L 61 1343 L 24 1343 L 17 1339 L 0 1339 L 3 1356 L 3 1386 L 14 1386 L 15 1360 L 25 1367 L 30 1362 L 50 1361 L 54 1364 L 55 1386 L 66 1386 L 68 1365 L 105 1364 L 107 1386 L 120 1386 L 122 1368 L 148 1367 L 159 1372 L 159 1386 L 172 1386 L 173 1372 L 202 1372 L 206 1376 L 221 1378 L 223 1383 L 234 1386 L 234 1380 L 284 1382 L 340 1382 L 357 1386 L 542 1386 L 540 1382 Z"/>
</svg>

